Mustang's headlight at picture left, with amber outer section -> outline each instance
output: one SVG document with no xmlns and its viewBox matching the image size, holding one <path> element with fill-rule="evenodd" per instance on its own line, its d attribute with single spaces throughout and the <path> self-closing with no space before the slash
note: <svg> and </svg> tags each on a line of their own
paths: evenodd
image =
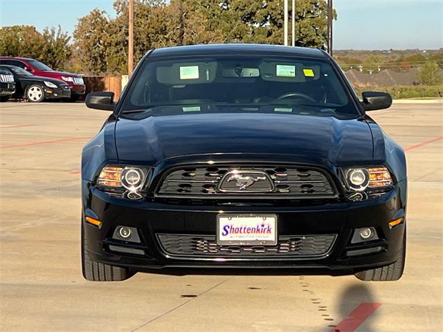
<svg viewBox="0 0 443 332">
<path fill-rule="evenodd" d="M 101 187 L 121 188 L 130 192 L 141 190 L 145 184 L 147 169 L 132 166 L 106 166 L 101 170 L 97 184 Z"/>
</svg>

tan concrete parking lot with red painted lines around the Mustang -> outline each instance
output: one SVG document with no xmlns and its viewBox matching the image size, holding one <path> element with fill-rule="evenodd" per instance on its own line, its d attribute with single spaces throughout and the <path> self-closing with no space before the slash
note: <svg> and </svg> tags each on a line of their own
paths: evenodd
<svg viewBox="0 0 443 332">
<path fill-rule="evenodd" d="M 1 331 L 441 331 L 443 103 L 374 111 L 408 158 L 408 248 L 399 282 L 226 271 L 80 270 L 80 155 L 108 112 L 0 104 Z"/>
</svg>

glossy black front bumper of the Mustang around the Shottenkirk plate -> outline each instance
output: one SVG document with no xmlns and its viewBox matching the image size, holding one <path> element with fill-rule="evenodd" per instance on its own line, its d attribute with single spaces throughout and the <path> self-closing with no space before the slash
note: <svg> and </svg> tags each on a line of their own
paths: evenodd
<svg viewBox="0 0 443 332">
<path fill-rule="evenodd" d="M 405 222 L 390 229 L 388 223 L 405 217 L 406 181 L 390 192 L 361 202 L 336 201 L 326 205 L 304 206 L 209 206 L 172 205 L 155 201 L 130 201 L 109 196 L 83 181 L 84 214 L 102 221 L 100 228 L 86 223 L 84 232 L 89 255 L 96 261 L 132 270 L 164 267 L 237 267 L 237 268 L 305 268 L 329 273 L 350 274 L 391 264 L 397 259 L 404 238 Z M 214 237 L 217 214 L 277 214 L 279 237 L 303 237 L 311 234 L 336 237 L 324 255 L 174 255 L 165 252 L 159 234 L 190 234 Z M 118 225 L 138 229 L 141 244 L 111 239 Z M 351 244 L 355 228 L 374 227 L 379 240 Z M 145 255 L 123 254 L 109 245 L 144 250 Z M 363 248 L 380 248 L 365 255 L 348 256 L 347 252 Z"/>
</svg>

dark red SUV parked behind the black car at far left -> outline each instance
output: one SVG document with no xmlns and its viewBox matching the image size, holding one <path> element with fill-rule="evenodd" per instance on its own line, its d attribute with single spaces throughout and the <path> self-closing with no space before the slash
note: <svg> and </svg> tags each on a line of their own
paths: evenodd
<svg viewBox="0 0 443 332">
<path fill-rule="evenodd" d="M 17 66 L 36 76 L 57 78 L 58 80 L 66 82 L 71 88 L 70 99 L 72 102 L 78 100 L 80 95 L 84 95 L 84 92 L 86 91 L 86 86 L 80 75 L 66 73 L 65 71 L 54 71 L 53 68 L 50 68 L 46 66 L 46 64 L 35 59 L 29 59 L 27 57 L 0 57 L 0 64 Z"/>
</svg>

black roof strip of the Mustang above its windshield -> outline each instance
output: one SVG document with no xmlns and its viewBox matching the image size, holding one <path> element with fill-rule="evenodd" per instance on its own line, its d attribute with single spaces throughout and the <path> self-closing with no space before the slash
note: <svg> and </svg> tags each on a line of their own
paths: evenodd
<svg viewBox="0 0 443 332">
<path fill-rule="evenodd" d="M 327 59 L 323 50 L 266 44 L 207 44 L 156 48 L 150 57 L 178 57 L 189 55 L 260 54 L 271 56 L 298 56 Z"/>
</svg>

